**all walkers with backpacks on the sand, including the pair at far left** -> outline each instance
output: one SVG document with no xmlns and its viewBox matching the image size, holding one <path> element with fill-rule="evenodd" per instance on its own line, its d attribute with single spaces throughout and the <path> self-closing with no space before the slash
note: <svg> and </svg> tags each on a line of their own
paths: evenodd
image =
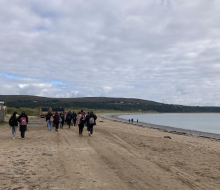
<svg viewBox="0 0 220 190">
<path fill-rule="evenodd" d="M 59 127 L 63 128 L 65 123 L 69 128 L 72 124 L 74 124 L 74 126 L 78 125 L 79 127 L 79 136 L 83 136 L 83 129 L 85 125 L 87 126 L 89 136 L 92 136 L 93 126 L 96 125 L 96 119 L 97 116 L 93 112 L 88 112 L 87 114 L 85 114 L 83 110 L 81 110 L 78 115 L 70 111 L 67 114 L 65 112 L 56 112 L 54 115 L 51 112 L 48 112 L 48 114 L 46 115 L 48 131 L 51 131 L 52 126 L 55 126 L 56 131 L 58 132 Z M 15 139 L 19 123 L 21 138 L 24 139 L 25 131 L 27 131 L 28 124 L 28 116 L 25 114 L 24 111 L 21 113 L 20 116 L 17 115 L 17 112 L 14 112 L 9 119 L 9 125 L 12 127 L 13 139 Z"/>
</svg>

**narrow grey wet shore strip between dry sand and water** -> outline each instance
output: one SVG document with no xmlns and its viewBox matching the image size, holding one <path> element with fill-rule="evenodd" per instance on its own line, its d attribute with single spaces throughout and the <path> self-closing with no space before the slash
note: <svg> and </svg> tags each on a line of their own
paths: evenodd
<svg viewBox="0 0 220 190">
<path fill-rule="evenodd" d="M 220 134 L 216 133 L 208 133 L 208 132 L 202 132 L 202 131 L 196 131 L 196 130 L 190 130 L 190 129 L 182 129 L 182 128 L 176 128 L 176 127 L 169 127 L 169 126 L 164 126 L 164 125 L 156 125 L 156 124 L 151 124 L 151 123 L 145 123 L 145 122 L 136 122 L 134 121 L 132 123 L 128 123 L 126 119 L 119 118 L 118 116 L 120 115 L 136 115 L 136 114 L 102 114 L 100 115 L 102 118 L 113 120 L 116 122 L 123 122 L 131 125 L 136 125 L 139 127 L 148 127 L 148 128 L 153 128 L 153 129 L 158 129 L 162 130 L 164 132 L 168 133 L 174 133 L 178 135 L 195 135 L 203 138 L 209 138 L 209 139 L 217 139 L 220 140 Z"/>
</svg>

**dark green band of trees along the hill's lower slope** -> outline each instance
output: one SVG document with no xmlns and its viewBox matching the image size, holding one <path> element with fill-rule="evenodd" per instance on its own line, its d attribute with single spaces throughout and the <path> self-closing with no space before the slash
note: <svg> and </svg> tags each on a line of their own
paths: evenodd
<svg viewBox="0 0 220 190">
<path fill-rule="evenodd" d="M 160 113 L 198 113 L 198 112 L 220 112 L 220 107 L 200 107 L 200 106 L 182 106 L 163 104 L 158 102 L 151 103 L 137 103 L 120 101 L 60 101 L 60 100 L 45 100 L 45 101 L 32 101 L 32 100 L 16 100 L 5 101 L 5 105 L 9 107 L 21 108 L 37 108 L 37 107 L 83 107 L 89 109 L 109 109 L 117 111 L 156 111 Z"/>
</svg>

